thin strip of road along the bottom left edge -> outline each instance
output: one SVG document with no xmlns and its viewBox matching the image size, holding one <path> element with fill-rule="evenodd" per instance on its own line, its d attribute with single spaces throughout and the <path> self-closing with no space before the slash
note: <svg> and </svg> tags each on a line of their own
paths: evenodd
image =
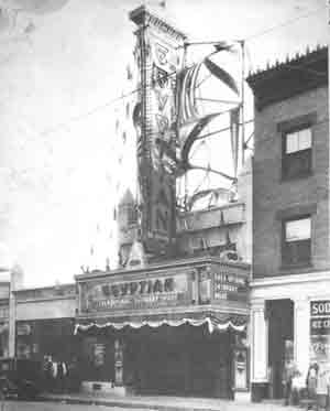
<svg viewBox="0 0 330 411">
<path fill-rule="evenodd" d="M 0 411 L 132 411 L 118 407 L 103 405 L 73 405 L 53 402 L 24 402 L 24 401 L 2 401 Z M 136 409 L 134 411 L 145 411 L 146 409 Z"/>
</svg>

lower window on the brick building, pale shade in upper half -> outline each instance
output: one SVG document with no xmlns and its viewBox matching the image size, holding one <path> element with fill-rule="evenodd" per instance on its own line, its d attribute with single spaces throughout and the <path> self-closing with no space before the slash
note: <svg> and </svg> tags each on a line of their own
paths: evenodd
<svg viewBox="0 0 330 411">
<path fill-rule="evenodd" d="M 284 266 L 304 266 L 310 262 L 310 217 L 283 221 L 282 262 Z"/>
</svg>

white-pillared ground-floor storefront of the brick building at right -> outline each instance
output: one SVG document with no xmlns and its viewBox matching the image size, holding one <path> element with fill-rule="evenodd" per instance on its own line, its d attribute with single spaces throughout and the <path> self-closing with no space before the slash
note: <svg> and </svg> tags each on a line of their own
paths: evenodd
<svg viewBox="0 0 330 411">
<path fill-rule="evenodd" d="M 312 275 L 254 280 L 251 284 L 252 388 L 256 397 L 283 397 L 283 369 L 294 360 L 302 376 L 317 363 L 319 383 L 330 371 L 330 280 Z"/>
</svg>

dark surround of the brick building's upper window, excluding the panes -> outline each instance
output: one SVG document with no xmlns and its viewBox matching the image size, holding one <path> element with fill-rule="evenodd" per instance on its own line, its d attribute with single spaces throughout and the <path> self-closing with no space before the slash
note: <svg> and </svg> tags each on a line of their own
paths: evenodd
<svg viewBox="0 0 330 411">
<path fill-rule="evenodd" d="M 310 147 L 304 150 L 294 151 L 292 153 L 287 153 L 287 137 L 295 132 L 299 132 L 301 130 L 310 130 Z M 287 129 L 282 130 L 282 181 L 290 181 L 296 179 L 304 179 L 308 177 L 312 174 L 314 161 L 312 161 L 312 153 L 314 153 L 314 132 L 312 132 L 312 123 L 310 121 L 299 123 L 295 127 L 289 127 Z M 302 159 L 302 156 L 308 156 L 308 169 L 300 170 L 296 173 L 289 173 L 289 166 L 287 165 L 292 161 L 299 161 L 297 159 Z M 307 161 L 307 160 L 306 160 Z"/>
</svg>

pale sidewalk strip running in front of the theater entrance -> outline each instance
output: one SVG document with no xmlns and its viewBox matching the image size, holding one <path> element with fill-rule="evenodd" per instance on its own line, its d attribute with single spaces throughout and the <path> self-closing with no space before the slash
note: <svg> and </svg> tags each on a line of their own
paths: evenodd
<svg viewBox="0 0 330 411">
<path fill-rule="evenodd" d="M 297 407 L 283 407 L 270 402 L 235 402 L 213 398 L 190 398 L 190 397 L 119 397 L 107 393 L 73 393 L 56 394 L 45 393 L 42 401 L 66 402 L 70 404 L 95 404 L 106 407 L 119 407 L 138 410 L 160 411 L 297 411 Z"/>
</svg>

